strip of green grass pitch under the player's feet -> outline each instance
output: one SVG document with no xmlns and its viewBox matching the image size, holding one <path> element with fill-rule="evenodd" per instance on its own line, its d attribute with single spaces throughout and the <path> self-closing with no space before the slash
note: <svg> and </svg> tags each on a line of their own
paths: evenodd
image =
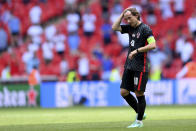
<svg viewBox="0 0 196 131">
<path fill-rule="evenodd" d="M 129 107 L 1 108 L 0 131 L 195 131 L 196 105 L 149 106 L 144 127 Z"/>
</svg>

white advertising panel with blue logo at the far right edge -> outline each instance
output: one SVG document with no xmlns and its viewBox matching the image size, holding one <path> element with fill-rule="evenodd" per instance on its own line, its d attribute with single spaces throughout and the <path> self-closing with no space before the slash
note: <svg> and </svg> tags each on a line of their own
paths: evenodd
<svg viewBox="0 0 196 131">
<path fill-rule="evenodd" d="M 196 104 L 196 79 L 181 79 L 176 83 L 177 104 Z"/>
</svg>

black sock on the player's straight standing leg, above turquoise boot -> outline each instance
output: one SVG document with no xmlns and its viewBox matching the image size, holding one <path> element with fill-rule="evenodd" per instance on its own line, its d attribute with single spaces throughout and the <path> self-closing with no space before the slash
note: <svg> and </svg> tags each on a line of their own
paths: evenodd
<svg viewBox="0 0 196 131">
<path fill-rule="evenodd" d="M 137 97 L 138 99 L 138 117 L 137 117 L 137 120 L 142 120 L 143 119 L 143 115 L 144 115 L 144 111 L 145 111 L 145 108 L 146 108 L 146 100 L 145 100 L 145 96 L 139 96 Z"/>
</svg>

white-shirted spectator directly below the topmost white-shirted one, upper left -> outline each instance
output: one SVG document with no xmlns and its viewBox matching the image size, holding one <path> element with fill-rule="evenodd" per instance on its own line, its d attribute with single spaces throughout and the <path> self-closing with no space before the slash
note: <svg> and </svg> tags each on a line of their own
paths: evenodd
<svg viewBox="0 0 196 131">
<path fill-rule="evenodd" d="M 43 28 L 39 24 L 31 25 L 28 28 L 27 33 L 32 39 L 33 43 L 41 44 L 41 34 L 43 33 Z"/>
</svg>

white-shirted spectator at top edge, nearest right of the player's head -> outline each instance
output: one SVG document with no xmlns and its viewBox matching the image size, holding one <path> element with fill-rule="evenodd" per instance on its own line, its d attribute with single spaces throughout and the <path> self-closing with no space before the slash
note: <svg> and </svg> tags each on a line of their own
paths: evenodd
<svg viewBox="0 0 196 131">
<path fill-rule="evenodd" d="M 159 0 L 159 5 L 162 13 L 162 18 L 167 20 L 168 18 L 173 17 L 173 12 L 171 10 L 171 0 Z"/>
</svg>

